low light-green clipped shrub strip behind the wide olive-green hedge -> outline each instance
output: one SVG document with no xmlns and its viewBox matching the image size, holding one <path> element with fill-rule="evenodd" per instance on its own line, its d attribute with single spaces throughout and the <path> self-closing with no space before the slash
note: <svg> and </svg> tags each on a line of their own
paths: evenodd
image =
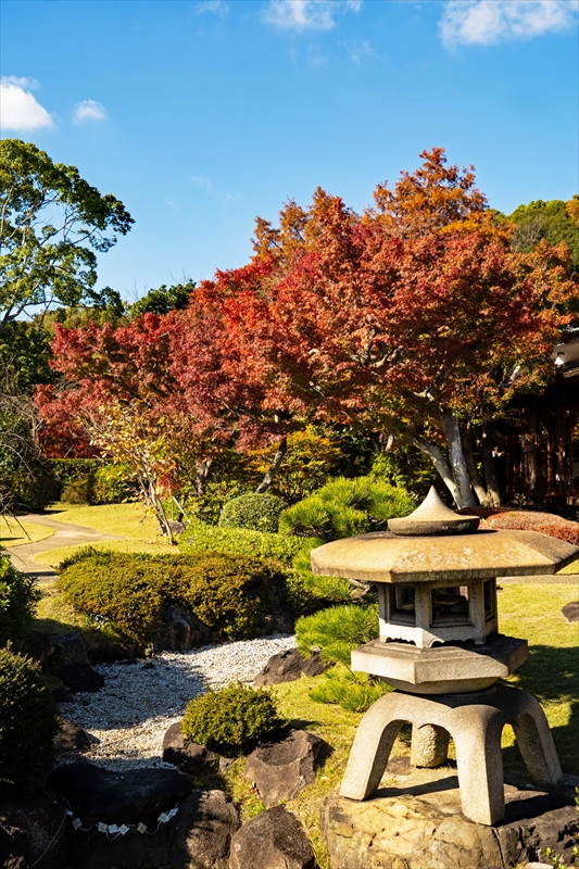
<svg viewBox="0 0 579 869">
<path fill-rule="evenodd" d="M 221 528 L 201 522 L 192 525 L 179 538 L 179 549 L 188 555 L 227 552 L 230 555 L 275 558 L 285 565 L 291 565 L 303 546 L 304 540 L 297 537 L 281 537 L 249 528 Z"/>
</svg>

